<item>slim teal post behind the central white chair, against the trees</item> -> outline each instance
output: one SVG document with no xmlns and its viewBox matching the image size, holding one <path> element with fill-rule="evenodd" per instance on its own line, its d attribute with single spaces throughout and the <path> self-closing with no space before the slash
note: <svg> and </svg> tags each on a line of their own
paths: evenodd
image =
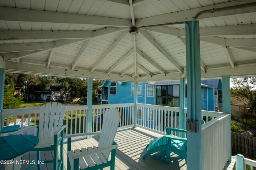
<svg viewBox="0 0 256 170">
<path fill-rule="evenodd" d="M 88 78 L 88 87 L 87 87 L 87 115 L 86 115 L 86 119 L 87 119 L 87 129 L 86 132 L 90 133 L 92 132 L 92 82 L 93 82 L 93 78 L 90 77 Z M 87 136 L 87 138 L 91 138 L 91 136 Z"/>
</svg>

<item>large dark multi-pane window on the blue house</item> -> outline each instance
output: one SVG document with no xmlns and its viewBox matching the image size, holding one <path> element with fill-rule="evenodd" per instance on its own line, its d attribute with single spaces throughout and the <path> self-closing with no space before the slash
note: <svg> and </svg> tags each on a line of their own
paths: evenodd
<svg viewBox="0 0 256 170">
<path fill-rule="evenodd" d="M 179 107 L 179 85 L 156 86 L 156 105 Z"/>
</svg>

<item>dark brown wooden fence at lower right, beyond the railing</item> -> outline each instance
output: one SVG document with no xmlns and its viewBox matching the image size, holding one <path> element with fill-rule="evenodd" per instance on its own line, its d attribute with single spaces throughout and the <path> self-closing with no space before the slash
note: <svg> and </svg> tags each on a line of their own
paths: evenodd
<svg viewBox="0 0 256 170">
<path fill-rule="evenodd" d="M 244 154 L 256 159 L 256 137 L 231 132 L 232 154 Z"/>
</svg>

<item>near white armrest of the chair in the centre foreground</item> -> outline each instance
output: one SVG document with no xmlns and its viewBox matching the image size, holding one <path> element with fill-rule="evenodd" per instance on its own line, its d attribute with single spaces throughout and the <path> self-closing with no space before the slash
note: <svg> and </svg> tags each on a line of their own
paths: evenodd
<svg viewBox="0 0 256 170">
<path fill-rule="evenodd" d="M 77 159 L 77 158 L 82 158 L 84 156 L 89 156 L 91 154 L 96 154 L 96 153 L 100 153 L 100 152 L 105 152 L 108 150 L 113 150 L 116 149 L 118 147 L 118 145 L 111 145 L 109 147 L 102 147 L 102 148 L 98 148 L 98 147 L 93 147 L 93 149 L 91 150 L 87 150 L 86 148 L 82 148 L 80 149 L 76 149 L 76 150 L 70 150 L 68 151 L 68 157 L 70 159 Z"/>
</svg>

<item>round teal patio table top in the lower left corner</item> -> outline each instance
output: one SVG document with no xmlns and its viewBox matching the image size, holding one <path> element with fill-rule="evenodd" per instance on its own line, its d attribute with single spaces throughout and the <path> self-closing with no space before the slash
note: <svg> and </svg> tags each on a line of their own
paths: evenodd
<svg viewBox="0 0 256 170">
<path fill-rule="evenodd" d="M 8 135 L 0 137 L 0 160 L 16 158 L 36 147 L 38 142 L 38 137 L 33 135 Z"/>
</svg>

